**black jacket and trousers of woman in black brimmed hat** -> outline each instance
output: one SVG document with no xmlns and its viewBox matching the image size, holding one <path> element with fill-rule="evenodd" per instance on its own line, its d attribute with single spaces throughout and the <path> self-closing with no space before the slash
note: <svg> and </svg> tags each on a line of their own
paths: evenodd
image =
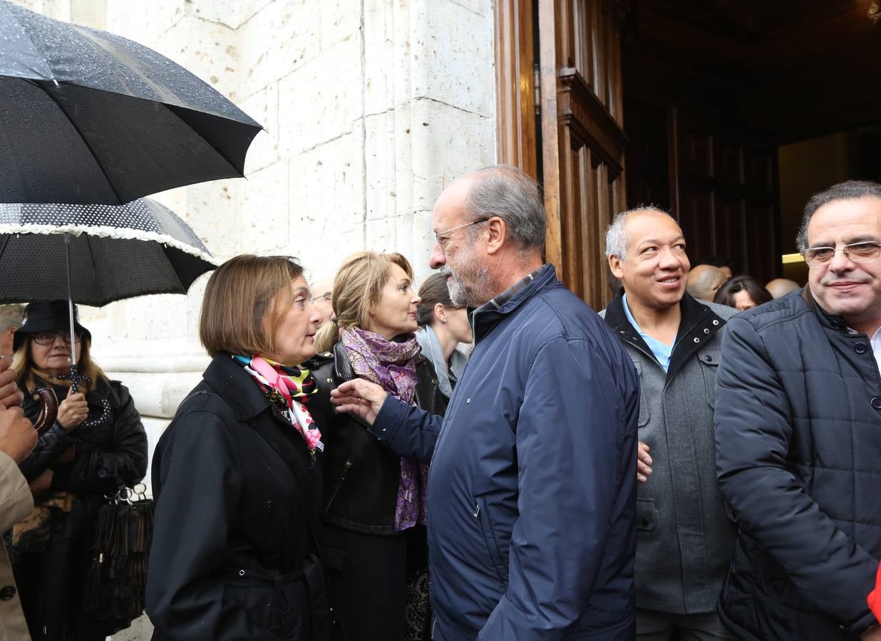
<svg viewBox="0 0 881 641">
<path fill-rule="evenodd" d="M 34 380 L 35 387 L 46 382 Z M 62 400 L 69 389 L 54 386 Z M 41 402 L 26 390 L 25 415 L 34 420 Z M 105 492 L 132 486 L 147 471 L 147 437 L 141 417 L 127 387 L 117 380 L 99 379 L 86 395 L 88 424 L 67 433 L 52 425 L 20 468 L 28 481 L 53 468 L 52 490 L 76 495 L 70 512 L 53 512 L 51 535 L 44 551 L 11 549 L 11 561 L 19 585 L 22 606 L 34 641 L 78 637 L 104 637 L 130 622 L 99 620 L 85 615 L 82 589 L 93 558 L 94 524 Z M 58 463 L 74 446 L 72 460 Z M 43 632 L 45 630 L 45 632 Z"/>
</svg>

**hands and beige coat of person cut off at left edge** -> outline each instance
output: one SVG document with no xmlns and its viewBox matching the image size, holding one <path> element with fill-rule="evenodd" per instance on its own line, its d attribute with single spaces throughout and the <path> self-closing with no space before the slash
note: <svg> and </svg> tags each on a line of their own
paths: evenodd
<svg viewBox="0 0 881 641">
<path fill-rule="evenodd" d="M 9 358 L 0 358 L 0 531 L 33 512 L 33 495 L 19 470 L 37 443 L 37 431 L 21 411 L 23 394 Z M 0 639 L 29 641 L 19 589 L 6 547 L 0 546 Z"/>
</svg>

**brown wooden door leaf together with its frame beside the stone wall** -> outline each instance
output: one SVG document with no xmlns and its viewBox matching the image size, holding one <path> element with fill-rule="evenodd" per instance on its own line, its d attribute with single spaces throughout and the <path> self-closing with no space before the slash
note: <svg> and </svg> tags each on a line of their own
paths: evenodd
<svg viewBox="0 0 881 641">
<path fill-rule="evenodd" d="M 543 184 L 546 260 L 596 309 L 609 300 L 605 228 L 625 207 L 622 6 L 498 0 L 495 13 L 500 162 Z"/>
</svg>

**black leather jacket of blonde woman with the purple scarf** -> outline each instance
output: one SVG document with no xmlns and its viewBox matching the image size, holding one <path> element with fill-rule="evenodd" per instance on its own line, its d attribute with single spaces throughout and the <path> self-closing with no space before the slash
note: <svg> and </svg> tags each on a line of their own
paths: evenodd
<svg viewBox="0 0 881 641">
<path fill-rule="evenodd" d="M 432 414 L 443 416 L 448 399 L 437 387 L 434 367 L 421 354 L 415 358 L 416 401 Z M 322 431 L 324 453 L 323 519 L 364 534 L 400 534 L 395 529 L 395 507 L 401 479 L 401 457 L 366 431 L 366 424 L 330 405 L 330 390 L 356 378 L 342 343 L 333 352 L 316 355 L 306 365 L 318 383 L 318 394 L 307 408 Z"/>
</svg>

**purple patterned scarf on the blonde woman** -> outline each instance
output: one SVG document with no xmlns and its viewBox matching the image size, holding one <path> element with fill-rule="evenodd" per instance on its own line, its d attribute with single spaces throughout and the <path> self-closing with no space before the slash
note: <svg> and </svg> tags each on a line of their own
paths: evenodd
<svg viewBox="0 0 881 641">
<path fill-rule="evenodd" d="M 362 379 L 371 380 L 386 392 L 408 405 L 416 404 L 416 365 L 419 343 L 413 336 L 396 343 L 366 329 L 351 328 L 342 332 L 345 354 L 352 370 Z M 426 488 L 428 466 L 401 457 L 401 481 L 397 486 L 395 529 L 405 530 L 426 523 Z"/>
</svg>

